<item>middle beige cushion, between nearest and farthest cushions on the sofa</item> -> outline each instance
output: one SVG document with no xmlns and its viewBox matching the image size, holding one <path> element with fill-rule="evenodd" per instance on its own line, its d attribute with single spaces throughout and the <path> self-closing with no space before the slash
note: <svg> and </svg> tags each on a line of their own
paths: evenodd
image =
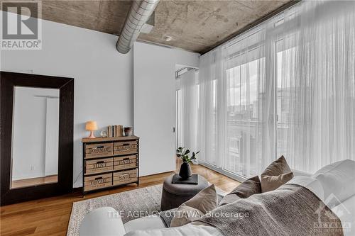
<svg viewBox="0 0 355 236">
<path fill-rule="evenodd" d="M 249 198 L 249 196 L 256 193 L 261 193 L 259 176 L 254 176 L 250 179 L 247 179 L 243 183 L 239 184 L 239 186 L 236 186 L 236 188 L 231 191 L 231 193 L 228 193 L 226 196 L 224 196 L 224 198 L 222 198 L 222 201 L 218 206 L 234 203 L 240 198 Z"/>
</svg>

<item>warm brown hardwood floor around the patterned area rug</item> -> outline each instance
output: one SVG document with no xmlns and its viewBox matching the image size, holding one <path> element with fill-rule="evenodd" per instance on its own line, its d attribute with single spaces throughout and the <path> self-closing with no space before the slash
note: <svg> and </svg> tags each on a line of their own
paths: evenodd
<svg viewBox="0 0 355 236">
<path fill-rule="evenodd" d="M 177 171 L 179 168 L 180 162 L 177 161 Z M 215 184 L 224 191 L 231 191 L 239 185 L 238 181 L 200 165 L 192 165 L 192 172 L 195 174 L 201 174 L 209 182 Z M 69 222 L 73 202 L 143 188 L 146 186 L 153 186 L 155 184 L 162 184 L 165 177 L 170 174 L 172 174 L 172 172 L 143 176 L 140 178 L 140 184 L 138 187 L 136 184 L 133 184 L 131 186 L 124 186 L 117 189 L 89 193 L 84 198 L 81 197 L 80 193 L 72 193 L 65 196 L 3 206 L 0 208 L 0 235 L 66 235 L 67 224 Z"/>
</svg>

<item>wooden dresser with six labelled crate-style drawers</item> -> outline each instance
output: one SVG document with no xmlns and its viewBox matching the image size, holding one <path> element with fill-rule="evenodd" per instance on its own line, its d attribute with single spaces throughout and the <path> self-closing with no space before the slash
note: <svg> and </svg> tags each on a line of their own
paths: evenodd
<svg viewBox="0 0 355 236">
<path fill-rule="evenodd" d="M 83 195 L 89 191 L 139 184 L 139 137 L 83 138 Z"/>
</svg>

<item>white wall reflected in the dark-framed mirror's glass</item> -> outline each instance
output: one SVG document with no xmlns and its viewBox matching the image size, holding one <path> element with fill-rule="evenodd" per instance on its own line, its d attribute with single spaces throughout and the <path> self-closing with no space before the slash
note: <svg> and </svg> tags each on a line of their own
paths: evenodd
<svg viewBox="0 0 355 236">
<path fill-rule="evenodd" d="M 12 180 L 45 176 L 46 145 L 54 146 L 52 149 L 56 153 L 53 159 L 58 162 L 58 140 L 46 140 L 47 113 L 51 108 L 44 96 L 59 96 L 59 89 L 16 86 L 13 95 Z M 52 108 L 57 108 L 52 113 L 58 123 L 58 99 Z M 53 131 L 58 133 L 58 126 L 53 127 Z M 53 174 L 56 174 L 56 169 Z"/>
</svg>

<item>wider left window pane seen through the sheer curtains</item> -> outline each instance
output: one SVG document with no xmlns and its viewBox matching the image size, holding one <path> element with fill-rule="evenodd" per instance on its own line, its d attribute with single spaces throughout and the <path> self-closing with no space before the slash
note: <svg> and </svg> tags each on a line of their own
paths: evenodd
<svg viewBox="0 0 355 236">
<path fill-rule="evenodd" d="M 261 60 L 226 69 L 227 147 L 224 169 L 250 176 L 257 173 L 258 70 Z"/>
</svg>

